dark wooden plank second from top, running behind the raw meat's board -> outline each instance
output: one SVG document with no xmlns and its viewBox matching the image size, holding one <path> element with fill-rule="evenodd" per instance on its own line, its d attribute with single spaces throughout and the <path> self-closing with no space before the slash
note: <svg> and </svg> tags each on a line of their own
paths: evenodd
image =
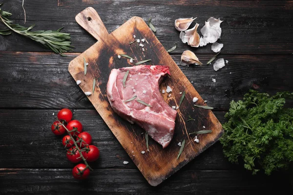
<svg viewBox="0 0 293 195">
<path fill-rule="evenodd" d="M 63 58 L 52 53 L 0 52 L 0 61 L 4 62 L 0 66 L 0 108 L 93 109 L 67 71 L 69 61 L 78 55 Z M 213 55 L 197 56 L 205 64 Z M 172 58 L 179 64 L 180 55 Z M 179 65 L 202 98 L 216 110 L 227 111 L 232 99 L 242 98 L 253 87 L 270 94 L 293 91 L 293 56 L 219 58 L 229 63 L 217 72 L 211 65 Z"/>
</svg>

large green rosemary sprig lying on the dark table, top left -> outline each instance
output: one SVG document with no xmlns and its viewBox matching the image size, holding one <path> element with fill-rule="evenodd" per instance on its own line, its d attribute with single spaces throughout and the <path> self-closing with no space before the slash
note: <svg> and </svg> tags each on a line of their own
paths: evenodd
<svg viewBox="0 0 293 195">
<path fill-rule="evenodd" d="M 70 45 L 71 42 L 69 41 L 70 34 L 60 32 L 63 28 L 60 28 L 57 31 L 31 31 L 31 29 L 35 27 L 35 24 L 31 25 L 30 27 L 13 24 L 12 20 L 6 18 L 7 16 L 11 15 L 11 13 L 2 11 L 0 9 L 0 21 L 8 27 L 8 29 L 1 30 L 0 35 L 9 35 L 11 34 L 11 31 L 14 31 L 15 33 L 18 33 L 24 37 L 39 42 L 43 47 L 51 49 L 53 52 L 60 54 L 61 56 L 64 56 L 62 54 L 63 52 L 73 50 L 73 46 Z"/>
</svg>

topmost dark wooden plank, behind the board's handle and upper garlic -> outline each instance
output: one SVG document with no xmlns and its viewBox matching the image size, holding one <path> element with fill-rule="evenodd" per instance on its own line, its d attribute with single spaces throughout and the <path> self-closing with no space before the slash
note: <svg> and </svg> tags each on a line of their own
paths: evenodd
<svg viewBox="0 0 293 195">
<path fill-rule="evenodd" d="M 53 30 L 64 26 L 64 32 L 72 35 L 74 52 L 84 52 L 96 42 L 87 32 L 74 22 L 74 17 L 88 5 L 99 13 L 109 32 L 112 32 L 132 16 L 152 21 L 157 28 L 156 37 L 166 48 L 178 43 L 175 53 L 190 49 L 196 53 L 211 54 L 210 44 L 201 48 L 191 48 L 179 39 L 179 32 L 174 28 L 176 17 L 198 17 L 199 29 L 210 16 L 221 17 L 223 54 L 269 54 L 291 55 L 293 25 L 288 25 L 292 16 L 292 1 L 203 1 L 188 2 L 181 5 L 175 2 L 153 1 L 68 1 L 61 0 L 60 6 L 55 1 L 32 1 L 26 3 L 27 24 L 37 23 L 36 30 Z M 162 4 L 160 4 L 162 3 Z M 164 4 L 165 3 L 165 4 Z M 175 3 L 175 5 L 171 5 Z M 21 2 L 20 2 L 21 4 Z M 42 7 L 46 9 L 40 10 Z M 63 9 L 66 8 L 66 9 Z M 16 1 L 4 1 L 3 9 L 10 10 L 23 23 L 23 10 Z M 105 11 L 107 10 L 107 11 Z M 164 10 L 162 12 L 161 10 Z M 199 10 L 194 16 L 194 10 Z M 54 14 L 52 14 L 54 12 Z M 153 14 L 160 13 L 160 14 Z M 174 14 L 178 13 L 178 14 Z M 115 18 L 115 20 L 113 20 Z M 290 23 L 290 22 L 289 22 Z M 194 25 L 194 24 L 192 24 Z M 19 35 L 0 36 L 0 51 L 48 51 L 37 43 Z"/>
</svg>

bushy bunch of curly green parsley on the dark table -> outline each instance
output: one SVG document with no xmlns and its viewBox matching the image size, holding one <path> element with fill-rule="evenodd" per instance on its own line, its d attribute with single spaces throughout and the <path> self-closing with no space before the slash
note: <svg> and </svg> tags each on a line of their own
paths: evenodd
<svg viewBox="0 0 293 195">
<path fill-rule="evenodd" d="M 253 175 L 259 171 L 258 165 L 267 175 L 289 167 L 293 162 L 293 109 L 284 108 L 285 98 L 293 98 L 293 93 L 270 97 L 251 90 L 243 101 L 230 102 L 225 115 L 229 120 L 220 138 L 230 162 L 238 163 L 242 157 L 244 167 Z"/>
</svg>

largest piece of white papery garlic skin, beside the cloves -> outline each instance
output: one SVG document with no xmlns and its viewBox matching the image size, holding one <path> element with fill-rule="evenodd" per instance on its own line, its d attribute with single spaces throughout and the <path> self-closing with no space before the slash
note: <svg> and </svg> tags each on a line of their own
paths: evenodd
<svg viewBox="0 0 293 195">
<path fill-rule="evenodd" d="M 220 27 L 220 19 L 209 18 L 204 27 L 200 30 L 203 35 L 200 45 L 204 46 L 208 43 L 214 43 L 221 38 L 222 29 Z"/>
</svg>

